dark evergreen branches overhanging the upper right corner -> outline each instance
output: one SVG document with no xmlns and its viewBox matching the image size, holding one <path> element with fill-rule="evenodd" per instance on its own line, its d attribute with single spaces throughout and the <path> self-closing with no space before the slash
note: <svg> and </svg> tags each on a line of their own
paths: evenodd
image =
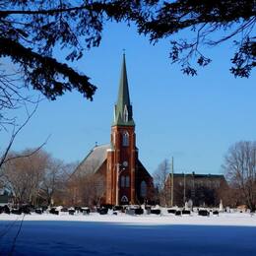
<svg viewBox="0 0 256 256">
<path fill-rule="evenodd" d="M 256 1 L 255 0 L 178 0 L 146 1 L 151 9 L 141 12 L 136 19 L 139 32 L 150 35 L 152 42 L 170 38 L 170 58 L 178 62 L 185 74 L 196 75 L 198 66 L 206 66 L 211 59 L 202 52 L 202 46 L 216 46 L 232 40 L 236 46 L 230 72 L 235 77 L 249 77 L 256 66 Z M 160 4 L 161 3 L 161 4 Z M 193 33 L 177 38 L 176 33 Z M 216 32 L 222 32 L 216 33 Z M 216 39 L 214 39 L 217 37 Z"/>
</svg>

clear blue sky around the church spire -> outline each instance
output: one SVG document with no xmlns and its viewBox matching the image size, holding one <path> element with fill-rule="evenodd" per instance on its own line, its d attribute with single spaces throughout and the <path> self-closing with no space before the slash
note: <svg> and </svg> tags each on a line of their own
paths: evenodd
<svg viewBox="0 0 256 256">
<path fill-rule="evenodd" d="M 213 62 L 188 77 L 170 64 L 168 40 L 154 46 L 132 27 L 109 24 L 100 46 L 72 63 L 96 84 L 94 101 L 78 93 L 43 100 L 13 150 L 36 147 L 51 135 L 45 150 L 70 162 L 83 160 L 96 142 L 109 143 L 123 48 L 139 156 L 151 173 L 172 156 L 175 172 L 221 173 L 231 144 L 255 140 L 255 71 L 249 79 L 229 73 L 231 44 L 205 49 Z M 6 143 L 7 134 L 1 140 Z"/>
</svg>

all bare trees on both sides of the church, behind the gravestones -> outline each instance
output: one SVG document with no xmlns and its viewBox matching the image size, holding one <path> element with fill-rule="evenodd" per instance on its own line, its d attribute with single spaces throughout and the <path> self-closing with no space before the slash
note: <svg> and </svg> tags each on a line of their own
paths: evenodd
<svg viewBox="0 0 256 256">
<path fill-rule="evenodd" d="M 10 160 L 0 168 L 0 188 L 9 191 L 17 205 L 93 207 L 102 202 L 105 177 L 94 173 L 94 163 L 86 166 L 87 171 L 83 173 L 78 163 L 64 163 L 42 149 L 12 152 L 8 157 Z M 194 195 L 199 200 L 197 206 L 200 202 L 206 206 L 219 206 L 222 200 L 224 206 L 245 205 L 255 211 L 256 142 L 241 141 L 232 145 L 224 156 L 222 167 L 225 181 L 218 186 L 204 183 L 197 186 Z M 152 199 L 162 206 L 170 204 L 169 175 L 169 162 L 163 160 L 154 172 L 155 195 Z M 183 177 L 176 183 L 174 203 L 184 206 L 191 198 L 192 188 L 187 183 L 184 190 Z"/>
</svg>

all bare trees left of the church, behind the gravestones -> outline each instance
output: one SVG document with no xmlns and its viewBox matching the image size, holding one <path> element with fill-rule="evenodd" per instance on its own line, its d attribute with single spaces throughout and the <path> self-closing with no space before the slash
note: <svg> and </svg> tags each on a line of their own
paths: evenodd
<svg viewBox="0 0 256 256">
<path fill-rule="evenodd" d="M 93 206 L 102 196 L 102 180 L 74 173 L 77 163 L 64 163 L 40 149 L 12 152 L 0 168 L 0 189 L 14 205 Z"/>
</svg>

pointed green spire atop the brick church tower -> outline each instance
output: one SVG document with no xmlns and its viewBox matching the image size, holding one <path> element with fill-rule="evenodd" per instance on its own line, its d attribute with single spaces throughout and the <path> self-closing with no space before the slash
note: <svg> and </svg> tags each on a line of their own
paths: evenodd
<svg viewBox="0 0 256 256">
<path fill-rule="evenodd" d="M 121 77 L 119 82 L 119 92 L 117 103 L 114 109 L 113 125 L 134 126 L 132 105 L 130 103 L 129 87 L 126 72 L 125 54 L 123 54 L 123 63 Z"/>
</svg>

